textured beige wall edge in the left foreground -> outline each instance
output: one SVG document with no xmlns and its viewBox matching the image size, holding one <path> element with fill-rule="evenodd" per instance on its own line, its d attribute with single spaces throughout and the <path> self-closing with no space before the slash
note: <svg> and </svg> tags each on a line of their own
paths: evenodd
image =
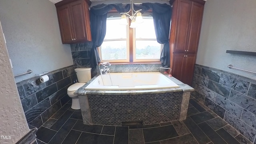
<svg viewBox="0 0 256 144">
<path fill-rule="evenodd" d="M 28 124 L 12 74 L 0 22 L 0 144 L 15 144 L 27 132 Z M 10 139 L 3 139 L 7 136 Z M 9 137 L 10 136 L 10 137 Z"/>
</svg>

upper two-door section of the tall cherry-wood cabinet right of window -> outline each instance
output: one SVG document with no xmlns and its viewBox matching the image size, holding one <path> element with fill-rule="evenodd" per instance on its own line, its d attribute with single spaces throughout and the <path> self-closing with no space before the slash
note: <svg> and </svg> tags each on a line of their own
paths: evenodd
<svg viewBox="0 0 256 144">
<path fill-rule="evenodd" d="M 170 37 L 174 53 L 197 52 L 203 10 L 201 0 L 175 0 Z"/>
</svg>

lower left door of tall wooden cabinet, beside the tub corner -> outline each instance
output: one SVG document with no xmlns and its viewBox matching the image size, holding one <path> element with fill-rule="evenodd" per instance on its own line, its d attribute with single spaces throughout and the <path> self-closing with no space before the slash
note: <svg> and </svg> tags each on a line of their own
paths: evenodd
<svg viewBox="0 0 256 144">
<path fill-rule="evenodd" d="M 172 76 L 181 80 L 182 78 L 182 67 L 184 65 L 184 58 L 186 54 L 173 54 L 172 58 Z"/>
</svg>

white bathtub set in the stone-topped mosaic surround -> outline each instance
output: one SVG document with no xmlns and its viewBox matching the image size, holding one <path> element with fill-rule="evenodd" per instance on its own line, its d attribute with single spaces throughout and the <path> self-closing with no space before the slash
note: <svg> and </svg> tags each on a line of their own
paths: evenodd
<svg viewBox="0 0 256 144">
<path fill-rule="evenodd" d="M 85 90 L 154 90 L 178 87 L 160 72 L 133 72 L 99 75 Z"/>
</svg>

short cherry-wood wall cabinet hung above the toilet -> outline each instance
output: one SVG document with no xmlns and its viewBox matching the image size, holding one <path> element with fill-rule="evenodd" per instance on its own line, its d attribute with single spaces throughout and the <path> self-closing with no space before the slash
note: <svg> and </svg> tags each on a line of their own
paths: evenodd
<svg viewBox="0 0 256 144">
<path fill-rule="evenodd" d="M 89 0 L 63 0 L 55 4 L 63 44 L 92 41 L 90 4 Z"/>
</svg>

